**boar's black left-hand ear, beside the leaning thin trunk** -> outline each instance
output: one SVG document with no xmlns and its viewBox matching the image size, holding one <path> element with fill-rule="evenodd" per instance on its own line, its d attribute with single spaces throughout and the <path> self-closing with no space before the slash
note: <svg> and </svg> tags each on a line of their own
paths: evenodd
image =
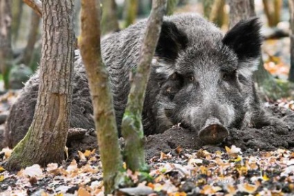
<svg viewBox="0 0 294 196">
<path fill-rule="evenodd" d="M 155 56 L 173 62 L 178 58 L 179 51 L 185 49 L 188 44 L 186 33 L 180 31 L 173 22 L 164 21 L 159 35 Z"/>
</svg>

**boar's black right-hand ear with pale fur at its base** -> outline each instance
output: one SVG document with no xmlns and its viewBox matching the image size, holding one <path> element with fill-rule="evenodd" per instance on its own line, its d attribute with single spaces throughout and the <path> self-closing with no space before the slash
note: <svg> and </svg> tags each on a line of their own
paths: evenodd
<svg viewBox="0 0 294 196">
<path fill-rule="evenodd" d="M 236 53 L 239 72 L 250 75 L 257 69 L 262 37 L 261 22 L 257 17 L 237 23 L 223 38 L 223 44 Z"/>
</svg>

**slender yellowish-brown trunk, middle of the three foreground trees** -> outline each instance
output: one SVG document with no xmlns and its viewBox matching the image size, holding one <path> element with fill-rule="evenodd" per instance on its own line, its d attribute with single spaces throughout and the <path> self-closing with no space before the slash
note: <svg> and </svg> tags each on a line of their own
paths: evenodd
<svg viewBox="0 0 294 196">
<path fill-rule="evenodd" d="M 94 121 L 103 166 L 105 193 L 112 193 L 122 169 L 121 151 L 108 74 L 101 58 L 100 1 L 83 0 L 80 52 L 86 67 L 94 108 Z"/>
</svg>

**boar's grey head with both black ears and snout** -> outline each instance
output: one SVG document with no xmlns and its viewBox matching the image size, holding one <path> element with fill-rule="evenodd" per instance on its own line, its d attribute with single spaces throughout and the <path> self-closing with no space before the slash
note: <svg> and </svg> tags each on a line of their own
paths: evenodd
<svg viewBox="0 0 294 196">
<path fill-rule="evenodd" d="M 165 21 L 146 90 L 146 134 L 179 124 L 207 143 L 241 126 L 253 96 L 252 72 L 260 56 L 261 24 L 241 21 L 223 36 L 202 26 Z"/>
</svg>

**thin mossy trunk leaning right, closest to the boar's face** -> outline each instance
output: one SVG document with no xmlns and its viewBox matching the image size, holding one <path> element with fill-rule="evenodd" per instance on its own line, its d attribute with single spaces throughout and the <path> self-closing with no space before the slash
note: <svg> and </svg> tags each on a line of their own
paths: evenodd
<svg viewBox="0 0 294 196">
<path fill-rule="evenodd" d="M 141 124 L 144 95 L 150 73 L 150 65 L 159 39 L 162 21 L 166 13 L 166 0 L 153 1 L 144 41 L 141 46 L 137 73 L 131 83 L 130 95 L 123 115 L 122 133 L 126 141 L 124 156 L 127 168 L 146 170 L 144 155 L 144 131 Z"/>
</svg>

